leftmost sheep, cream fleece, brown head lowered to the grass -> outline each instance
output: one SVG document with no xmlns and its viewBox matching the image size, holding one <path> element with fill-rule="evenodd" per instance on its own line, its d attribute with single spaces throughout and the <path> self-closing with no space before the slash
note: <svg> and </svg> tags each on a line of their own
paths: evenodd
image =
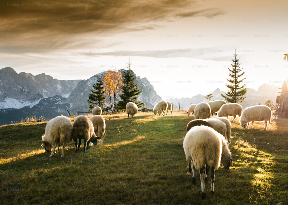
<svg viewBox="0 0 288 205">
<path fill-rule="evenodd" d="M 62 145 L 61 157 L 64 157 L 65 144 L 71 141 L 72 132 L 73 126 L 70 118 L 62 115 L 57 116 L 46 124 L 41 146 L 44 147 L 45 152 L 51 151 L 51 148 L 53 147 L 50 154 L 50 157 L 52 157 L 52 155 L 56 153 L 56 145 L 58 145 L 57 153 L 59 152 L 60 145 Z"/>
</svg>

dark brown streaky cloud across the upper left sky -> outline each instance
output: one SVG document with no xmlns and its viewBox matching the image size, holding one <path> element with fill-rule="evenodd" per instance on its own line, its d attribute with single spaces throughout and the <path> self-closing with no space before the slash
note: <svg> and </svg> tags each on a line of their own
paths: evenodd
<svg viewBox="0 0 288 205">
<path fill-rule="evenodd" d="M 18 2 L 18 1 L 17 1 Z M 43 3 L 42 3 L 43 2 Z M 11 1 L 0 2 L 1 50 L 33 52 L 75 46 L 75 35 L 117 34 L 156 29 L 161 22 L 193 16 L 213 17 L 197 1 Z M 76 38 L 77 39 L 77 38 Z M 79 39 L 79 38 L 78 38 Z M 91 42 L 83 41 L 82 46 Z"/>
</svg>

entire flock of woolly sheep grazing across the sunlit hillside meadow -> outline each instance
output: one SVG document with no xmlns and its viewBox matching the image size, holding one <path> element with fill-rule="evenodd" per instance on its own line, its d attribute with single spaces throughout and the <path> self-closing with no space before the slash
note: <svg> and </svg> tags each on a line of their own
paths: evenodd
<svg viewBox="0 0 288 205">
<path fill-rule="evenodd" d="M 168 111 L 173 116 L 172 104 L 168 101 L 160 101 L 153 108 L 156 115 L 167 115 Z M 126 105 L 126 113 L 130 117 L 134 117 L 138 107 L 133 102 L 128 102 Z M 272 111 L 266 105 L 255 105 L 247 107 L 242 111 L 241 105 L 237 103 L 226 103 L 224 100 L 215 100 L 208 103 L 201 102 L 191 104 L 187 109 L 188 116 L 194 113 L 194 119 L 187 124 L 187 133 L 183 140 L 183 149 L 188 162 L 189 172 L 192 172 L 192 183 L 195 183 L 195 170 L 200 172 L 201 181 L 201 198 L 205 198 L 205 180 L 207 174 L 211 170 L 211 194 L 214 193 L 214 171 L 217 170 L 220 164 L 223 164 L 226 170 L 229 169 L 232 163 L 232 156 L 229 149 L 231 137 L 231 123 L 234 122 L 236 116 L 240 117 L 239 122 L 245 132 L 249 123 L 252 122 L 254 129 L 254 121 L 265 121 L 264 130 L 267 130 L 268 122 L 271 124 Z M 217 117 L 210 118 L 211 114 L 217 113 Z M 45 128 L 45 134 L 42 136 L 42 145 L 46 152 L 51 151 L 50 157 L 56 153 L 55 149 L 58 145 L 62 145 L 62 155 L 64 156 L 65 144 L 72 139 L 75 143 L 75 152 L 79 150 L 81 139 L 84 139 L 84 152 L 89 148 L 89 141 L 92 138 L 101 139 L 103 145 L 103 137 L 105 133 L 105 119 L 101 116 L 101 107 L 95 107 L 92 110 L 93 116 L 77 116 L 72 122 L 70 118 L 58 116 L 51 119 Z M 233 116 L 232 122 L 228 116 Z M 79 139 L 77 147 L 77 139 Z M 57 151 L 57 152 L 58 152 Z"/>
</svg>

